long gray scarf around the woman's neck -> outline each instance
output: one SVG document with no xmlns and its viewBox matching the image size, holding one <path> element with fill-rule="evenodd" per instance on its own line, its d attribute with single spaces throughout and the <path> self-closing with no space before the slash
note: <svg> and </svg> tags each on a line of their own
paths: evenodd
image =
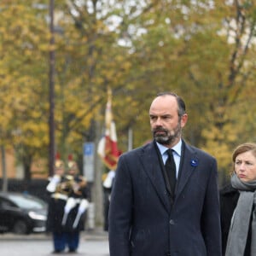
<svg viewBox="0 0 256 256">
<path fill-rule="evenodd" d="M 239 190 L 240 196 L 231 219 L 225 256 L 244 255 L 250 224 L 252 225 L 251 255 L 256 255 L 256 212 L 255 209 L 253 211 L 253 205 L 256 205 L 256 181 L 244 183 L 234 174 L 231 177 L 231 185 Z M 250 223 L 252 214 L 253 220 Z"/>
</svg>

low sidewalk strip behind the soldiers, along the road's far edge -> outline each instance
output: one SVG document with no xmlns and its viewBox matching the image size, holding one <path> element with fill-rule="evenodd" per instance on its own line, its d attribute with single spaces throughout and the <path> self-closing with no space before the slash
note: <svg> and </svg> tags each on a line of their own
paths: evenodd
<svg viewBox="0 0 256 256">
<path fill-rule="evenodd" d="M 102 227 L 94 230 L 84 230 L 80 233 L 80 238 L 88 241 L 106 241 L 108 240 L 108 232 L 102 230 Z M 4 240 L 51 240 L 51 234 L 29 234 L 17 235 L 13 233 L 0 233 L 0 241 Z"/>
</svg>

